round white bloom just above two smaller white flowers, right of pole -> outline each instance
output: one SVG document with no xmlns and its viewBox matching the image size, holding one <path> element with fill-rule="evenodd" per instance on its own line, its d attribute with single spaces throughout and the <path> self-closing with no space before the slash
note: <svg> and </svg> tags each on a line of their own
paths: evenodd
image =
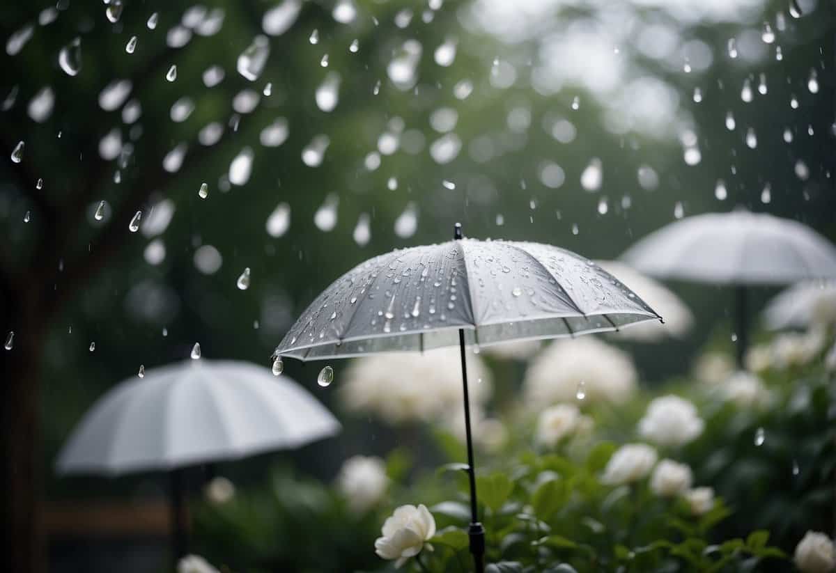
<svg viewBox="0 0 836 573">
<path fill-rule="evenodd" d="M 639 434 L 661 446 L 681 446 L 702 434 L 705 423 L 694 404 L 669 394 L 655 398 L 639 420 Z"/>
</svg>

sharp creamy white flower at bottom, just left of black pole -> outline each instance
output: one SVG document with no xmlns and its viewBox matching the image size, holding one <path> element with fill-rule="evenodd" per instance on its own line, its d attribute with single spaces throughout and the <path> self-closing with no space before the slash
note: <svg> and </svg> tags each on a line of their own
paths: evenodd
<svg viewBox="0 0 836 573">
<path fill-rule="evenodd" d="M 375 553 L 396 560 L 395 567 L 421 553 L 426 541 L 436 535 L 436 520 L 426 505 L 401 505 L 383 524 L 382 537 L 375 540 Z M 427 544 L 427 549 L 432 546 Z"/>
</svg>

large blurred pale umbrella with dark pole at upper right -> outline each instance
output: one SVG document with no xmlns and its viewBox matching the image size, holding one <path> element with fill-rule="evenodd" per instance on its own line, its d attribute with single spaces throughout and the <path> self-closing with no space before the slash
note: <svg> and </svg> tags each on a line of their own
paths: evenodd
<svg viewBox="0 0 836 573">
<path fill-rule="evenodd" d="M 836 247 L 798 221 L 734 210 L 686 217 L 621 259 L 650 276 L 730 285 L 737 297 L 737 363 L 747 347 L 747 287 L 836 277 Z"/>
</svg>

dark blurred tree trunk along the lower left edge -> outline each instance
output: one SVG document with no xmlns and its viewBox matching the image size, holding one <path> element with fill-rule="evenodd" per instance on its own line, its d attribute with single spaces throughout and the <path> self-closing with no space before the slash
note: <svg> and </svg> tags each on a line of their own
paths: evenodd
<svg viewBox="0 0 836 573">
<path fill-rule="evenodd" d="M 0 349 L 0 465 L 3 490 L 3 550 L 0 570 L 45 570 L 40 472 L 39 373 L 44 317 L 38 305 L 12 293 L 3 297 L 3 342 L 14 331 L 13 347 Z M 2 565 L 5 563 L 6 565 Z"/>
</svg>

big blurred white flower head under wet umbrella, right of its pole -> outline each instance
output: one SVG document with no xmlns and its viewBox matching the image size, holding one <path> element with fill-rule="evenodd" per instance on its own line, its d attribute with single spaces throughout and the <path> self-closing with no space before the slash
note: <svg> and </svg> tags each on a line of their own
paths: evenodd
<svg viewBox="0 0 836 573">
<path fill-rule="evenodd" d="M 635 390 L 630 355 L 594 337 L 553 342 L 528 368 L 523 389 L 537 408 L 576 399 L 579 387 L 591 402 L 619 402 Z"/>
</svg>

